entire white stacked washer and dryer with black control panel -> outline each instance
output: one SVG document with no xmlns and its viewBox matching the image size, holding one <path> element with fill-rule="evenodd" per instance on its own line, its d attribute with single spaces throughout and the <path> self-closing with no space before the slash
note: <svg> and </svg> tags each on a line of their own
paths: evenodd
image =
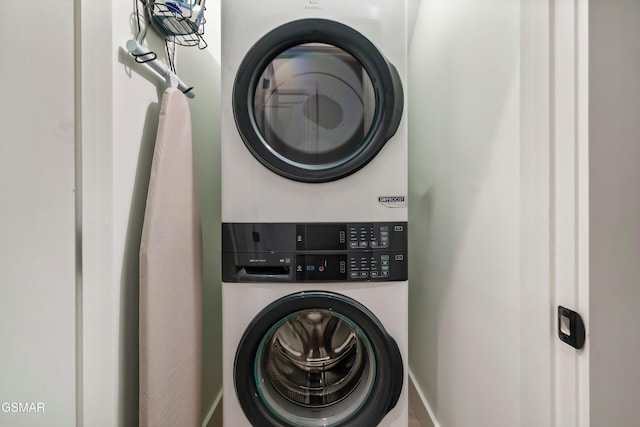
<svg viewBox="0 0 640 427">
<path fill-rule="evenodd" d="M 222 1 L 225 427 L 406 427 L 406 2 Z"/>
</svg>

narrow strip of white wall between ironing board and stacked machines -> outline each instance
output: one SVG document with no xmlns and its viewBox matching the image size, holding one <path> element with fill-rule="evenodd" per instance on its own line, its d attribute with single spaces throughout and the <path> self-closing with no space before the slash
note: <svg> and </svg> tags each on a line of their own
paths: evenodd
<svg viewBox="0 0 640 427">
<path fill-rule="evenodd" d="M 203 233 L 203 419 L 222 416 L 222 293 L 220 227 L 220 1 L 207 1 L 205 50 L 183 48 L 178 72 L 195 87 L 189 101 Z M 219 404 L 219 406 L 217 406 Z M 215 414 L 213 411 L 216 411 Z"/>
</svg>

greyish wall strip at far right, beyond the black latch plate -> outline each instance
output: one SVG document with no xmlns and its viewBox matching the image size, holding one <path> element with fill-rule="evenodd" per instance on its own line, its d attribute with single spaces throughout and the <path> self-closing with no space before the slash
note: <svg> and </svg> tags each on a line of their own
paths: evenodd
<svg viewBox="0 0 640 427">
<path fill-rule="evenodd" d="M 640 3 L 589 2 L 591 426 L 640 420 Z"/>
</svg>

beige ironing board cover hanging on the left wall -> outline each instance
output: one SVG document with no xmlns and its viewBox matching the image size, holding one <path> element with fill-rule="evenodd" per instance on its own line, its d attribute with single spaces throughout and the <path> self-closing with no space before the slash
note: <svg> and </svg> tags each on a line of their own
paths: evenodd
<svg viewBox="0 0 640 427">
<path fill-rule="evenodd" d="M 140 245 L 140 426 L 202 425 L 202 244 L 191 116 L 162 97 Z"/>
</svg>

